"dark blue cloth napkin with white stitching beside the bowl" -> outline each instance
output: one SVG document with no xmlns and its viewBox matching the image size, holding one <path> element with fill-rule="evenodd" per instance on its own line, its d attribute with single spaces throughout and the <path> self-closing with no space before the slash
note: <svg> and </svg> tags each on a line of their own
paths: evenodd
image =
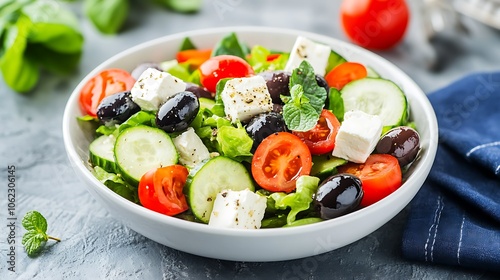
<svg viewBox="0 0 500 280">
<path fill-rule="evenodd" d="M 440 141 L 411 202 L 403 255 L 500 271 L 500 72 L 467 76 L 428 97 Z"/>
</svg>

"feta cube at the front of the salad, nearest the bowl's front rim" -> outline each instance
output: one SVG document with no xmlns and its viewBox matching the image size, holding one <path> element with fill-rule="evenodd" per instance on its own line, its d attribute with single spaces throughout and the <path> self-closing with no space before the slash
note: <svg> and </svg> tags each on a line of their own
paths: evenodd
<svg viewBox="0 0 500 280">
<path fill-rule="evenodd" d="M 210 214 L 209 226 L 258 229 L 261 226 L 267 199 L 248 189 L 224 190 L 217 194 Z"/>
</svg>

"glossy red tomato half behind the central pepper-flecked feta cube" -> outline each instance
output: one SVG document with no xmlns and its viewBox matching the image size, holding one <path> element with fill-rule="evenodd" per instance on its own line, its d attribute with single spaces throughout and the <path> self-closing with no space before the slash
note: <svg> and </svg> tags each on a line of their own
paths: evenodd
<svg viewBox="0 0 500 280">
<path fill-rule="evenodd" d="M 200 65 L 200 82 L 210 92 L 215 92 L 217 83 L 224 78 L 243 78 L 254 74 L 252 66 L 241 57 L 219 55 Z"/>
</svg>

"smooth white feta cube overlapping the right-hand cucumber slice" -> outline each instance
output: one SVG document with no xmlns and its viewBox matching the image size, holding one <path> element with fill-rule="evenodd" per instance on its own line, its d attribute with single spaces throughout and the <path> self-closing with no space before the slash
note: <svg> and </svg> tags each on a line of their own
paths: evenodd
<svg viewBox="0 0 500 280">
<path fill-rule="evenodd" d="M 335 138 L 332 155 L 356 163 L 364 163 L 373 152 L 382 133 L 379 116 L 362 111 L 349 111 Z"/>
</svg>

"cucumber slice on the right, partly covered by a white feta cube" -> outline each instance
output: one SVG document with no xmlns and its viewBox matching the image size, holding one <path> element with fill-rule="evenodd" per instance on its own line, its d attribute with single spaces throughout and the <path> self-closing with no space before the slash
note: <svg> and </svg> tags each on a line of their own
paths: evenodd
<svg viewBox="0 0 500 280">
<path fill-rule="evenodd" d="M 340 91 L 345 112 L 360 110 L 378 115 L 383 126 L 397 126 L 407 117 L 407 102 L 403 91 L 392 81 L 364 78 L 352 81 Z"/>
</svg>

